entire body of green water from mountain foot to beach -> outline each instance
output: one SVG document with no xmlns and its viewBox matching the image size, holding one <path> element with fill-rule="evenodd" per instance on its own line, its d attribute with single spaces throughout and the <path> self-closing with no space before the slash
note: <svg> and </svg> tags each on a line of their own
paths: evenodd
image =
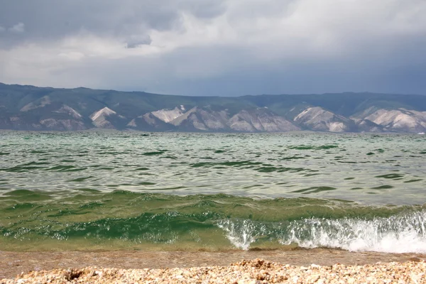
<svg viewBox="0 0 426 284">
<path fill-rule="evenodd" d="M 0 132 L 0 250 L 426 253 L 426 140 Z"/>
</svg>

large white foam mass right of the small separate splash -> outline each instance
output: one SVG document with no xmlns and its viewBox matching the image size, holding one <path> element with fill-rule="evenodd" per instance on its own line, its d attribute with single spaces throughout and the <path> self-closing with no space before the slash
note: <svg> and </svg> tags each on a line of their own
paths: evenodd
<svg viewBox="0 0 426 284">
<path fill-rule="evenodd" d="M 389 218 L 305 219 L 292 222 L 282 244 L 304 248 L 329 247 L 348 251 L 426 253 L 426 213 Z"/>
</svg>

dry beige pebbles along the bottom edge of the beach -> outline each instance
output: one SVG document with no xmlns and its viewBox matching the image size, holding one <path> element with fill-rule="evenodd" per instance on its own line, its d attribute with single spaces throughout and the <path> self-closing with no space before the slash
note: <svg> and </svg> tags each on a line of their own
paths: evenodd
<svg viewBox="0 0 426 284">
<path fill-rule="evenodd" d="M 256 258 L 192 268 L 61 268 L 21 273 L 0 283 L 426 283 L 426 262 L 291 266 Z"/>
</svg>

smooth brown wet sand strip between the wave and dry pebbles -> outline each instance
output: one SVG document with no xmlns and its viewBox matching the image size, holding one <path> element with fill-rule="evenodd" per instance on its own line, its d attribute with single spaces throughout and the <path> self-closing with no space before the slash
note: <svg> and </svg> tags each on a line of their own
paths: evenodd
<svg viewBox="0 0 426 284">
<path fill-rule="evenodd" d="M 263 258 L 292 266 L 365 265 L 392 261 L 426 260 L 426 254 L 349 252 L 337 249 L 296 249 L 293 251 L 0 251 L 0 279 L 14 278 L 28 271 L 53 268 L 188 268 L 229 266 L 242 259 Z"/>
</svg>

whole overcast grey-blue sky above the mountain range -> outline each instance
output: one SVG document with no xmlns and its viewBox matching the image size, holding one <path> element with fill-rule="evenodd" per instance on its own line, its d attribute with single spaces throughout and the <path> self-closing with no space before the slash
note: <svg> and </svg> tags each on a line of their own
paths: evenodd
<svg viewBox="0 0 426 284">
<path fill-rule="evenodd" d="M 0 0 L 0 82 L 426 94 L 425 0 Z"/>
</svg>

